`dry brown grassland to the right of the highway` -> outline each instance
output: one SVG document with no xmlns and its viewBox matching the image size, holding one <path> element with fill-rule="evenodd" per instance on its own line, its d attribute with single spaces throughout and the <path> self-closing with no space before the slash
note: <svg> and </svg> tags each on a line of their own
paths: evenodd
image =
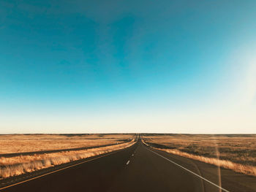
<svg viewBox="0 0 256 192">
<path fill-rule="evenodd" d="M 143 139 L 167 153 L 256 176 L 255 134 L 144 134 Z"/>
</svg>

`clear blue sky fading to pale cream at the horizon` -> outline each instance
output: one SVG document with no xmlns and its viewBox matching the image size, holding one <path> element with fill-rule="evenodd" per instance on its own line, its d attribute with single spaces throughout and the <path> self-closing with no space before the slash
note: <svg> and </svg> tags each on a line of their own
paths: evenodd
<svg viewBox="0 0 256 192">
<path fill-rule="evenodd" d="M 0 134 L 252 133 L 255 1 L 1 1 Z"/>
</svg>

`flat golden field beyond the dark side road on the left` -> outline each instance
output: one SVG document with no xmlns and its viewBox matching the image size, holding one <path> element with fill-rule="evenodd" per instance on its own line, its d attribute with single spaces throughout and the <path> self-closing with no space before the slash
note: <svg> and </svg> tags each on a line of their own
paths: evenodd
<svg viewBox="0 0 256 192">
<path fill-rule="evenodd" d="M 0 155 L 40 150 L 61 150 L 77 147 L 110 145 L 132 134 L 9 134 L 0 135 Z"/>
</svg>

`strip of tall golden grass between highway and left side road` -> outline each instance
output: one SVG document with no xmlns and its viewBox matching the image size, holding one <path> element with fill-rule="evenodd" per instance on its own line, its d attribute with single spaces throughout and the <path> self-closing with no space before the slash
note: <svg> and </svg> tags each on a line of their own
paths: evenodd
<svg viewBox="0 0 256 192">
<path fill-rule="evenodd" d="M 83 158 L 89 158 L 94 155 L 109 153 L 114 150 L 121 150 L 135 143 L 122 143 L 107 147 L 97 147 L 89 150 L 66 151 L 59 153 L 48 153 L 43 155 L 26 155 L 12 158 L 1 158 L 0 178 L 12 177 L 26 172 L 34 172 L 50 166 L 65 164 L 71 161 L 77 161 Z M 4 166 L 3 166 L 4 165 Z"/>
</svg>

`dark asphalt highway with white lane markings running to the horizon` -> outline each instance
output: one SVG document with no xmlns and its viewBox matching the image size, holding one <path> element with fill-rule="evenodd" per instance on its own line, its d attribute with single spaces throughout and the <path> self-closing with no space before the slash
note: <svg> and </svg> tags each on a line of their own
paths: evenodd
<svg viewBox="0 0 256 192">
<path fill-rule="evenodd" d="M 220 175 L 220 176 L 219 176 Z M 256 191 L 255 177 L 193 161 L 137 142 L 1 191 Z"/>
</svg>

